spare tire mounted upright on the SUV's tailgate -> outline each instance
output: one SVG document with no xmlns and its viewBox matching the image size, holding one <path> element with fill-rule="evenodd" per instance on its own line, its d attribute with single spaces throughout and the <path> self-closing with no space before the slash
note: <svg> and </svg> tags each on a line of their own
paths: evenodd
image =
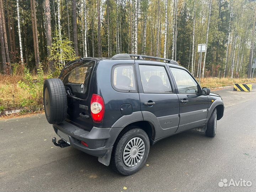
<svg viewBox="0 0 256 192">
<path fill-rule="evenodd" d="M 46 119 L 50 124 L 59 124 L 65 120 L 68 102 L 62 80 L 47 79 L 44 81 L 43 103 Z"/>
</svg>

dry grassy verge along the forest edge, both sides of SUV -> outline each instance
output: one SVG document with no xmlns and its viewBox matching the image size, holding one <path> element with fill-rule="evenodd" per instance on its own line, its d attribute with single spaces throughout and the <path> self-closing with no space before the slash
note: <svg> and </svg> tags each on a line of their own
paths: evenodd
<svg viewBox="0 0 256 192">
<path fill-rule="evenodd" d="M 4 111 L 23 109 L 22 113 L 43 110 L 43 82 L 51 78 L 40 71 L 37 76 L 29 72 L 25 75 L 0 75 L 0 115 Z M 201 86 L 214 88 L 234 83 L 256 83 L 255 79 L 202 78 Z"/>
</svg>

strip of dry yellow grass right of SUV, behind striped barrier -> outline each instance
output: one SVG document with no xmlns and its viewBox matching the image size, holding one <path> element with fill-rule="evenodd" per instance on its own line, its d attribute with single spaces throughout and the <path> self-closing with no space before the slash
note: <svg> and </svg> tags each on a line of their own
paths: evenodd
<svg viewBox="0 0 256 192">
<path fill-rule="evenodd" d="M 202 78 L 200 84 L 202 87 L 214 88 L 214 87 L 234 85 L 235 83 L 242 83 L 242 84 L 256 83 L 256 78 L 254 79 Z"/>
</svg>

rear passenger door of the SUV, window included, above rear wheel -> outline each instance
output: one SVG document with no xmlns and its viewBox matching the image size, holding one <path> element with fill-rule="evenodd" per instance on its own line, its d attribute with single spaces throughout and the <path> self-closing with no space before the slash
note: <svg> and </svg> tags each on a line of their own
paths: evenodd
<svg viewBox="0 0 256 192">
<path fill-rule="evenodd" d="M 154 139 L 175 133 L 179 101 L 165 63 L 135 60 L 143 119 L 156 128 Z"/>
</svg>

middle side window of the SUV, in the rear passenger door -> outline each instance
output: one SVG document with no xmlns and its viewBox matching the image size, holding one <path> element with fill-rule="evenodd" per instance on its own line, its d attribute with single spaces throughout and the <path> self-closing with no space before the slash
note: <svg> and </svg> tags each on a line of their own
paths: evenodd
<svg viewBox="0 0 256 192">
<path fill-rule="evenodd" d="M 171 93 L 171 84 L 164 66 L 139 65 L 144 92 Z"/>
</svg>

